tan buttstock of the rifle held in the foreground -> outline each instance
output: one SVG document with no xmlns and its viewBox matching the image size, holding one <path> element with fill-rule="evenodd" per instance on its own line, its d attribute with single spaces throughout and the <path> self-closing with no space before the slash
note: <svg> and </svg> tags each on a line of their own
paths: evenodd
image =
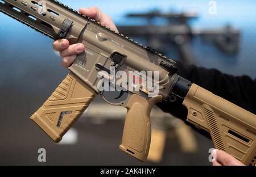
<svg viewBox="0 0 256 177">
<path fill-rule="evenodd" d="M 256 115 L 195 84 L 183 104 L 188 108 L 187 120 L 207 130 L 216 149 L 255 165 Z"/>
</svg>

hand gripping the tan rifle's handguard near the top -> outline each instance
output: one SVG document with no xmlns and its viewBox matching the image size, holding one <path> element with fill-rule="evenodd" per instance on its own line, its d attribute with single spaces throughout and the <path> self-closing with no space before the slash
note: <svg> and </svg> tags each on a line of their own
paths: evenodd
<svg viewBox="0 0 256 177">
<path fill-rule="evenodd" d="M 100 22 L 102 25 L 109 27 L 115 32 L 118 32 L 113 20 L 108 15 L 104 14 L 104 12 L 102 12 L 97 7 L 79 9 L 79 12 L 82 15 L 86 15 L 92 19 L 95 19 L 97 22 Z M 63 58 L 62 65 L 65 68 L 68 68 L 73 63 L 76 56 L 78 54 L 81 54 L 85 50 L 83 44 L 69 45 L 69 41 L 67 39 L 60 39 L 54 41 L 53 49 L 57 52 L 60 52 L 60 56 Z"/>
</svg>

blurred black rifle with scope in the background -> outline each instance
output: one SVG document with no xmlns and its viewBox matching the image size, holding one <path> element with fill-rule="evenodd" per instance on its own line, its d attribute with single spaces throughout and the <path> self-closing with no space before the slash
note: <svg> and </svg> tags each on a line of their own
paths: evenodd
<svg viewBox="0 0 256 177">
<path fill-rule="evenodd" d="M 147 19 L 148 24 L 118 26 L 119 31 L 128 36 L 143 37 L 148 45 L 163 53 L 168 53 L 170 47 L 175 47 L 181 60 L 189 64 L 195 63 L 191 41 L 196 36 L 214 44 L 225 54 L 237 54 L 240 47 L 241 32 L 229 25 L 216 29 L 192 28 L 189 22 L 199 17 L 195 12 L 176 14 L 151 11 L 144 14 L 127 14 L 127 17 Z M 155 19 L 165 19 L 167 24 L 156 25 Z"/>
</svg>

